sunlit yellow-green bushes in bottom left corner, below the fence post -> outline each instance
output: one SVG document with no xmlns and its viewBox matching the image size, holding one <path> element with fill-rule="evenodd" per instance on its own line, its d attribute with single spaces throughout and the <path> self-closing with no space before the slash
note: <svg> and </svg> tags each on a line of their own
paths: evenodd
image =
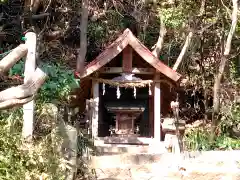
<svg viewBox="0 0 240 180">
<path fill-rule="evenodd" d="M 53 139 L 48 135 L 40 143 L 24 147 L 20 117 L 22 110 L 19 109 L 1 113 L 0 179 L 39 180 L 41 176 L 49 180 L 63 179 L 64 167 L 60 166 L 61 156 L 55 148 L 56 144 L 61 143 L 61 139 Z"/>
</svg>

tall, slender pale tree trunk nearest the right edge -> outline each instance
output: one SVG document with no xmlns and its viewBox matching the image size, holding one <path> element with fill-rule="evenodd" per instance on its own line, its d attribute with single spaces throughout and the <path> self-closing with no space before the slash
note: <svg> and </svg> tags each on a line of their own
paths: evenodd
<svg viewBox="0 0 240 180">
<path fill-rule="evenodd" d="M 220 112 L 220 85 L 221 79 L 224 73 L 226 63 L 228 61 L 228 56 L 231 50 L 232 38 L 236 29 L 237 19 L 238 19 L 238 0 L 232 0 L 233 11 L 232 11 L 232 25 L 228 33 L 227 41 L 225 44 L 224 53 L 221 57 L 221 62 L 219 65 L 218 73 L 215 76 L 215 82 L 213 87 L 213 115 L 212 115 L 212 130 L 211 130 L 211 141 L 213 142 L 215 138 L 215 131 L 219 121 Z"/>
</svg>

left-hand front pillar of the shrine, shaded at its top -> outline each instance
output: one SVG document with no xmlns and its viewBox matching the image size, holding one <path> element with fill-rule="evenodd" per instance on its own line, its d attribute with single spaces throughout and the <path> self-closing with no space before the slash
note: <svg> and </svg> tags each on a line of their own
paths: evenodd
<svg viewBox="0 0 240 180">
<path fill-rule="evenodd" d="M 92 105 L 92 136 L 98 137 L 98 111 L 99 111 L 99 83 L 93 81 L 93 105 Z"/>
</svg>

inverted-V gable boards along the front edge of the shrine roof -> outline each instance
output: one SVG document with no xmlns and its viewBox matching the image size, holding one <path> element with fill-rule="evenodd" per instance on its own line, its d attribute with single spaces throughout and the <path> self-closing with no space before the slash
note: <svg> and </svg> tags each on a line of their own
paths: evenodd
<svg viewBox="0 0 240 180">
<path fill-rule="evenodd" d="M 155 57 L 149 49 L 144 46 L 133 33 L 126 29 L 110 46 L 108 46 L 100 55 L 91 61 L 85 68 L 80 78 L 84 78 L 99 70 L 109 63 L 119 53 L 130 45 L 146 62 L 152 65 L 157 71 L 161 72 L 173 81 L 178 81 L 181 77 L 179 73 L 162 63 Z"/>
</svg>

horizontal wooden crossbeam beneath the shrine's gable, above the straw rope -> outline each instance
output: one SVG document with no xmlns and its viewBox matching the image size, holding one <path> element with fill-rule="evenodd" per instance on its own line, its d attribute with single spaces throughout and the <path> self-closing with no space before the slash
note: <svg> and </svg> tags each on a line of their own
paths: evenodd
<svg viewBox="0 0 240 180">
<path fill-rule="evenodd" d="M 103 74 L 119 74 L 122 73 L 122 67 L 104 67 L 100 70 L 100 73 Z M 154 68 L 132 68 L 131 73 L 133 74 L 154 74 L 156 70 Z"/>
</svg>

